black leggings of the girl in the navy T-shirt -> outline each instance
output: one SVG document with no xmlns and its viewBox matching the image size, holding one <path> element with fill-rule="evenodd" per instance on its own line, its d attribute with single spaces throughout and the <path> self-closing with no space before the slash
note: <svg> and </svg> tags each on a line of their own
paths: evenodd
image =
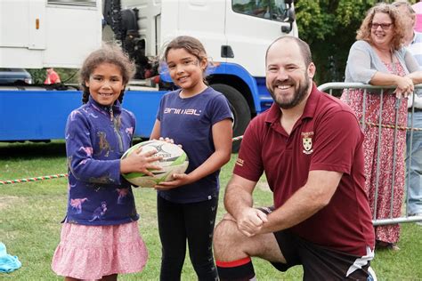
<svg viewBox="0 0 422 281">
<path fill-rule="evenodd" d="M 186 240 L 199 280 L 218 279 L 212 250 L 217 205 L 218 197 L 177 204 L 158 196 L 158 231 L 162 245 L 160 280 L 180 280 Z"/>
</svg>

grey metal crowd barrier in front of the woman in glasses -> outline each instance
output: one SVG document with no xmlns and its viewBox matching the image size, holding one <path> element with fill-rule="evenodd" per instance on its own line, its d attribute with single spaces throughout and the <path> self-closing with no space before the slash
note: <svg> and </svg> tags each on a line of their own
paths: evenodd
<svg viewBox="0 0 422 281">
<path fill-rule="evenodd" d="M 410 155 L 408 155 L 408 151 L 412 151 L 411 149 L 411 143 L 412 141 L 410 141 L 410 148 L 406 149 L 405 148 L 405 153 L 406 156 L 405 158 L 398 158 L 396 155 L 396 150 L 397 150 L 397 132 L 399 130 L 405 130 L 406 132 L 410 132 L 410 140 L 413 140 L 413 132 L 416 131 L 422 131 L 422 128 L 415 128 L 413 126 L 413 114 L 415 111 L 414 106 L 411 108 L 411 110 L 409 110 L 409 113 L 411 114 L 411 122 L 410 124 L 399 124 L 398 119 L 399 119 L 399 109 L 400 106 L 402 104 L 402 102 L 406 102 L 407 103 L 407 99 L 396 99 L 395 100 L 395 105 L 394 105 L 394 119 L 395 122 L 394 124 L 383 124 L 383 118 L 382 118 L 382 112 L 383 112 L 383 98 L 385 97 L 386 94 L 391 95 L 392 91 L 394 91 L 395 87 L 393 86 L 374 86 L 374 85 L 370 85 L 370 84 L 361 84 L 361 83 L 344 83 L 344 82 L 333 82 L 333 83 L 327 83 L 327 84 L 321 84 L 318 89 L 322 92 L 327 92 L 330 95 L 334 95 L 339 97 L 343 92 L 345 93 L 345 101 L 347 102 L 350 98 L 349 96 L 349 92 L 351 89 L 361 89 L 363 91 L 363 97 L 362 97 L 362 112 L 361 112 L 361 128 L 362 130 L 365 130 L 366 126 L 375 126 L 377 127 L 377 173 L 376 173 L 376 188 L 375 188 L 375 195 L 374 195 L 374 213 L 373 213 L 373 224 L 374 226 L 377 225 L 387 225 L 387 224 L 396 224 L 396 223 L 402 223 L 402 222 L 415 222 L 415 221 L 422 221 L 422 216 L 409 216 L 409 210 L 408 210 L 408 205 L 409 205 L 409 198 L 407 197 L 408 194 L 408 189 L 410 186 L 410 177 L 409 177 L 409 171 L 410 171 L 410 163 L 411 163 L 411 153 Z M 387 92 L 389 91 L 389 92 Z M 415 85 L 415 92 L 416 91 L 421 91 L 422 92 L 422 84 L 418 84 Z M 378 116 L 378 121 L 377 123 L 374 122 L 368 122 L 365 119 L 365 115 L 367 114 L 366 112 L 366 102 L 367 102 L 367 98 L 368 95 L 370 94 L 374 94 L 374 93 L 369 93 L 369 92 L 376 92 L 376 94 L 378 94 L 380 96 L 380 104 L 379 104 L 379 116 Z M 387 93 L 385 93 L 387 92 Z M 412 96 L 414 99 L 414 95 Z M 414 102 L 412 102 L 412 104 L 414 104 Z M 369 113 L 370 114 L 370 113 Z M 407 119 L 406 119 L 407 121 Z M 380 149 L 381 146 L 379 145 L 380 143 L 382 144 L 382 135 L 381 135 L 381 128 L 390 128 L 394 130 L 394 156 L 393 156 L 393 171 L 391 171 L 392 173 L 392 186 L 391 186 L 391 198 L 390 198 L 390 215 L 387 218 L 377 218 L 377 198 L 378 198 L 378 187 L 379 187 L 379 177 L 380 177 L 380 171 L 379 171 L 379 157 L 380 157 Z M 394 208 L 394 189 L 397 188 L 395 187 L 394 184 L 394 175 L 395 175 L 395 169 L 396 169 L 396 164 L 397 161 L 405 161 L 405 159 L 409 157 L 409 165 L 406 166 L 406 179 L 405 179 L 405 187 L 403 187 L 403 189 L 405 189 L 405 194 L 404 197 L 406 198 L 405 200 L 405 204 L 406 204 L 406 210 L 405 212 L 401 212 L 402 216 L 401 217 L 394 217 L 393 216 L 393 208 Z M 420 187 L 422 189 L 422 187 Z"/>
</svg>

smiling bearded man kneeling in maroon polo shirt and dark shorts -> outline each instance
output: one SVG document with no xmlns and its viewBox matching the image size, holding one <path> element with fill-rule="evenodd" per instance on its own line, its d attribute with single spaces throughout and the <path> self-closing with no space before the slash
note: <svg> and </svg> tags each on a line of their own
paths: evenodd
<svg viewBox="0 0 422 281">
<path fill-rule="evenodd" d="M 266 53 L 274 103 L 244 134 L 215 229 L 221 280 L 254 280 L 251 256 L 280 271 L 301 264 L 304 280 L 368 277 L 374 230 L 363 189 L 363 133 L 353 111 L 320 92 L 308 44 L 285 36 Z M 274 210 L 253 207 L 265 173 Z"/>
</svg>

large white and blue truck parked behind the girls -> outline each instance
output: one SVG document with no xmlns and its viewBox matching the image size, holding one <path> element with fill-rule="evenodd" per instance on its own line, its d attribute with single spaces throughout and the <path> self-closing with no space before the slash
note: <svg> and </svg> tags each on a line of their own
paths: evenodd
<svg viewBox="0 0 422 281">
<path fill-rule="evenodd" d="M 138 67 L 124 106 L 142 138 L 173 87 L 166 73 L 159 87 L 149 82 L 163 44 L 175 36 L 195 36 L 206 47 L 215 64 L 208 82 L 229 100 L 235 136 L 272 103 L 266 48 L 279 36 L 297 36 L 292 0 L 0 0 L 0 17 L 0 68 L 79 68 L 103 41 L 122 44 Z M 63 139 L 80 97 L 63 85 L 0 85 L 0 141 Z"/>
</svg>

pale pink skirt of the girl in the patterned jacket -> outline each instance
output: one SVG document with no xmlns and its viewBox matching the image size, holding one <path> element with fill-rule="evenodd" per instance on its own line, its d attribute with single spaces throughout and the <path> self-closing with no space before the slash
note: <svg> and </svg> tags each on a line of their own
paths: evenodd
<svg viewBox="0 0 422 281">
<path fill-rule="evenodd" d="M 137 221 L 111 226 L 64 223 L 52 269 L 63 277 L 101 279 L 140 272 L 147 259 Z"/>
</svg>

